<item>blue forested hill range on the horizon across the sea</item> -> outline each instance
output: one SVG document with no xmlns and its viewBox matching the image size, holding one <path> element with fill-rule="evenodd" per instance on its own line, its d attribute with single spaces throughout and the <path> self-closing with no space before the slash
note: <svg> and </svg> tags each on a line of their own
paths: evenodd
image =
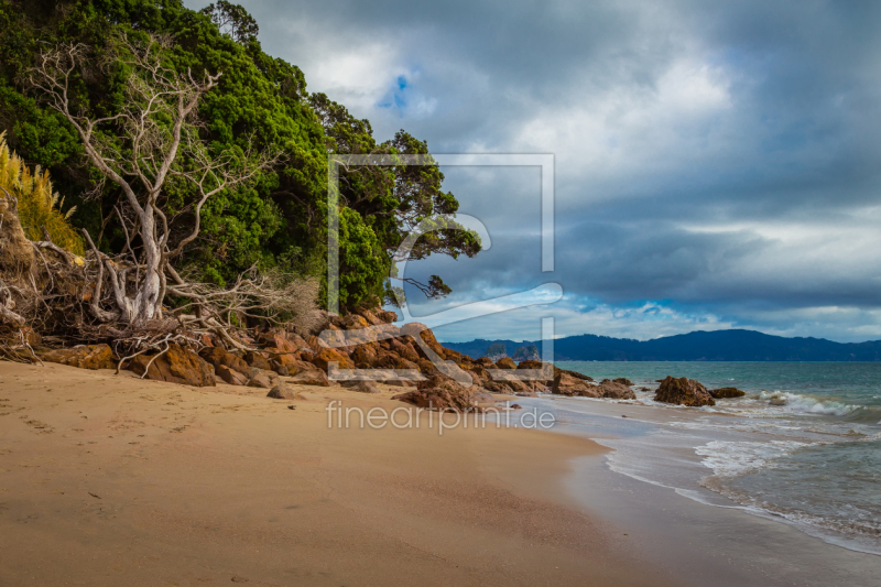
<svg viewBox="0 0 881 587">
<path fill-rule="evenodd" d="M 472 358 L 486 356 L 487 348 L 503 344 L 508 349 L 535 345 L 541 340 L 472 340 L 443 343 Z M 833 343 L 824 338 L 785 338 L 755 330 L 697 330 L 653 340 L 580 335 L 554 340 L 558 361 L 878 361 L 881 340 Z"/>
</svg>

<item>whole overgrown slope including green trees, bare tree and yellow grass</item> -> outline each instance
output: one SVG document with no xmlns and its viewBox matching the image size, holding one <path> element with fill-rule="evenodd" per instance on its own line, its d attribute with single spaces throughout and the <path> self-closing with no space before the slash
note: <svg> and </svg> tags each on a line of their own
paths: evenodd
<svg viewBox="0 0 881 587">
<path fill-rule="evenodd" d="M 376 139 L 258 36 L 225 0 L 0 0 L 2 230 L 15 220 L 26 238 L 7 238 L 8 338 L 139 352 L 203 334 L 246 350 L 248 328 L 306 334 L 327 300 L 329 205 L 344 314 L 398 303 L 404 283 L 449 293 L 395 269 L 480 251 L 428 145 L 404 130 Z M 335 155 L 377 164 L 340 165 L 329 199 Z"/>
</svg>

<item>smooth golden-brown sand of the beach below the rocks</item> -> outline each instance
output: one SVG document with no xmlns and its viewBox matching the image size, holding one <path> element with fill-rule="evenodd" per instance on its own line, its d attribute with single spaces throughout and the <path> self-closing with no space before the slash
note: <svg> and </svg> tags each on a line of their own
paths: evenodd
<svg viewBox="0 0 881 587">
<path fill-rule="evenodd" d="M 300 389 L 0 362 L 0 585 L 673 584 L 565 492 L 592 442 L 328 428 L 403 404 Z"/>
</svg>

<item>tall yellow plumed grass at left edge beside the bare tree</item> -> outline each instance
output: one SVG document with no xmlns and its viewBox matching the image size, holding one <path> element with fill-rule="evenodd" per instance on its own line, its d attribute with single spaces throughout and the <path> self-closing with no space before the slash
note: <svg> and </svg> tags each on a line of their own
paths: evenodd
<svg viewBox="0 0 881 587">
<path fill-rule="evenodd" d="M 64 199 L 53 193 L 48 171 L 37 165 L 32 172 L 9 150 L 6 132 L 0 132 L 0 185 L 19 199 L 19 220 L 29 239 L 44 240 L 45 228 L 55 244 L 83 256 L 83 238 L 69 222 L 76 206 L 62 213 Z"/>
</svg>

